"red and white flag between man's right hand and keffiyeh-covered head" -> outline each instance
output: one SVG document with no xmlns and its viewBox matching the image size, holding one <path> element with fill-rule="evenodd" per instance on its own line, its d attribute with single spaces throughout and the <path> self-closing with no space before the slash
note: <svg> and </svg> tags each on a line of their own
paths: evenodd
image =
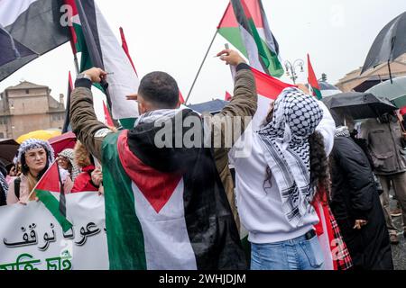
<svg viewBox="0 0 406 288">
<path fill-rule="evenodd" d="M 253 128 L 258 129 L 269 112 L 270 103 L 278 98 L 283 89 L 295 85 L 281 82 L 281 80 L 266 75 L 254 68 L 251 68 L 251 70 L 254 73 L 256 91 L 258 93 L 258 108 L 252 122 Z"/>
</svg>

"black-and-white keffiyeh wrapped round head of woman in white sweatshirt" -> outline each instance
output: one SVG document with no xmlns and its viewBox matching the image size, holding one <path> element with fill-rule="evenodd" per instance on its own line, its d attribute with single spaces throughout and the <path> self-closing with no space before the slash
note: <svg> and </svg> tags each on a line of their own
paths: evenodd
<svg viewBox="0 0 406 288">
<path fill-rule="evenodd" d="M 309 136 L 322 118 L 315 97 L 289 87 L 275 101 L 272 121 L 257 131 L 281 193 L 282 211 L 294 227 L 313 209 L 316 189 L 310 184 Z"/>
</svg>

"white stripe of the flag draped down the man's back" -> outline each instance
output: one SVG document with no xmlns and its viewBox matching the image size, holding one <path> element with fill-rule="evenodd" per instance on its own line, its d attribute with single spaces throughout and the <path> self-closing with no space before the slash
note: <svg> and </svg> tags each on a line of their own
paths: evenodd
<svg viewBox="0 0 406 288">
<path fill-rule="evenodd" d="M 132 184 L 135 212 L 143 229 L 148 270 L 196 270 L 185 221 L 183 179 L 171 198 L 157 213 L 136 184 Z"/>
</svg>

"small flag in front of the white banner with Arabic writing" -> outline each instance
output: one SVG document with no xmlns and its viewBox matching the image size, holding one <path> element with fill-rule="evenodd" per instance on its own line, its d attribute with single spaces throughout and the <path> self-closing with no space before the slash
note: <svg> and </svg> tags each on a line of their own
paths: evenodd
<svg viewBox="0 0 406 288">
<path fill-rule="evenodd" d="M 55 219 L 58 220 L 64 232 L 72 228 L 72 223 L 66 218 L 66 199 L 57 161 L 54 161 L 45 174 L 42 175 L 34 191 L 40 201 L 51 211 Z M 56 195 L 59 196 L 59 199 Z"/>
</svg>

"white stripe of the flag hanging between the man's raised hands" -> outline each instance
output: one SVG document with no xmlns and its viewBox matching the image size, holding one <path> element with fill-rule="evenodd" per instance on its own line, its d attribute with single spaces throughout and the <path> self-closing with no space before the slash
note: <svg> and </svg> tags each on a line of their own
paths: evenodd
<svg viewBox="0 0 406 288">
<path fill-rule="evenodd" d="M 112 102 L 112 114 L 115 119 L 138 117 L 138 105 L 126 100 L 128 94 L 138 91 L 140 81 L 134 72 L 130 60 L 115 38 L 105 17 L 96 6 L 97 31 L 105 70 L 113 73 L 107 77 L 108 92 Z"/>
</svg>

